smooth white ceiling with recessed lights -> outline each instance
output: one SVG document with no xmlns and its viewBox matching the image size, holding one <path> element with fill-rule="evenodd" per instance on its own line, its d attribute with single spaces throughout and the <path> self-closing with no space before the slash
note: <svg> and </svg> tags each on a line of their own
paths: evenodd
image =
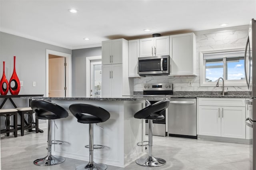
<svg viewBox="0 0 256 170">
<path fill-rule="evenodd" d="M 1 32 L 68 49 L 210 30 L 222 23 L 248 25 L 251 18 L 256 18 L 255 0 L 0 0 Z"/>
</svg>

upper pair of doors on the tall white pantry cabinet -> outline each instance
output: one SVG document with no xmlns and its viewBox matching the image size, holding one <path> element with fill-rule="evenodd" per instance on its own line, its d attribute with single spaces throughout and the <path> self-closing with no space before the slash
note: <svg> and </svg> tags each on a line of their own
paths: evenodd
<svg viewBox="0 0 256 170">
<path fill-rule="evenodd" d="M 122 63 L 123 42 L 124 39 L 102 42 L 102 65 Z"/>
</svg>

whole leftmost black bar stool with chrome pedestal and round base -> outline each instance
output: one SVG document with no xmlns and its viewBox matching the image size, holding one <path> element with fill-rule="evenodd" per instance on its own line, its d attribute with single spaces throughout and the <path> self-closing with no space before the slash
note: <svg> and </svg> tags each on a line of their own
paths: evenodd
<svg viewBox="0 0 256 170">
<path fill-rule="evenodd" d="M 52 140 L 52 120 L 68 117 L 68 112 L 59 105 L 43 100 L 32 100 L 30 106 L 36 113 L 36 119 L 48 120 L 48 155 L 44 158 L 34 160 L 34 164 L 39 166 L 50 166 L 64 162 L 64 157 L 52 155 L 52 144 L 63 143 L 60 140 Z M 54 141 L 54 143 L 52 141 Z"/>
</svg>

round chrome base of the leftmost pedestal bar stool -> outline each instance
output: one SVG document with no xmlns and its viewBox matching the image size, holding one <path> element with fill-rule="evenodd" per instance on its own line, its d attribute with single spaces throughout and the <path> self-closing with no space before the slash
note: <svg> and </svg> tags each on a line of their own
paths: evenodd
<svg viewBox="0 0 256 170">
<path fill-rule="evenodd" d="M 51 165 L 56 165 L 60 164 L 65 161 L 65 158 L 62 156 L 46 156 L 44 158 L 39 158 L 34 160 L 34 164 L 38 166 L 51 166 Z"/>
</svg>

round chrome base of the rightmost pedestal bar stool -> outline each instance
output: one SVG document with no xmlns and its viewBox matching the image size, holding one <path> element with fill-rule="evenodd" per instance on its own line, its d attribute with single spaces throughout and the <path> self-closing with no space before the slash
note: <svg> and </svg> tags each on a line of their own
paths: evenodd
<svg viewBox="0 0 256 170">
<path fill-rule="evenodd" d="M 156 167 L 156 166 L 163 166 L 166 164 L 166 161 L 161 158 L 155 158 L 154 156 L 148 156 L 147 158 L 139 158 L 136 161 L 136 164 L 141 166 L 148 166 L 148 167 Z"/>
</svg>

